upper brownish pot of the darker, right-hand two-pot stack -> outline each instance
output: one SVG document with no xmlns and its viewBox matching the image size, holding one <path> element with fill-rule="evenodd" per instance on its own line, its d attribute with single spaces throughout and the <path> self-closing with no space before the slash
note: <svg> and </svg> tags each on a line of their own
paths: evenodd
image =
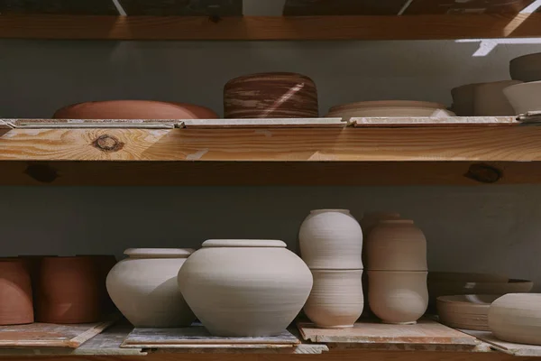
<svg viewBox="0 0 541 361">
<path fill-rule="evenodd" d="M 409 219 L 381 220 L 366 243 L 367 268 L 374 271 L 426 271 L 426 238 Z"/>
</svg>

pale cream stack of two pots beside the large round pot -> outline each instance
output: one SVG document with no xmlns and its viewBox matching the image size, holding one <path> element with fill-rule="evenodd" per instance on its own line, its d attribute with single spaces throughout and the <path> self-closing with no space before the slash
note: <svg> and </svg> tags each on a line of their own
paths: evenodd
<svg viewBox="0 0 541 361">
<path fill-rule="evenodd" d="M 362 230 L 347 209 L 312 210 L 298 233 L 314 276 L 304 311 L 317 327 L 346 329 L 362 314 Z"/>
</svg>

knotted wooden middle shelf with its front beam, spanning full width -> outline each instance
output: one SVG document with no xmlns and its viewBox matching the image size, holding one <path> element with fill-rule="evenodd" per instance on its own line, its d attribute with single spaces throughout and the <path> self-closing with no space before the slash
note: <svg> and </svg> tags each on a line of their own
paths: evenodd
<svg viewBox="0 0 541 361">
<path fill-rule="evenodd" d="M 8 120 L 5 124 L 15 128 L 5 129 L 7 133 L 0 137 L 0 184 L 541 182 L 541 127 L 522 125 L 512 118 L 490 122 L 482 118 L 482 124 L 460 119 L 439 119 L 434 124 L 412 119 L 410 125 L 400 119 L 394 120 L 395 125 L 386 118 L 358 119 L 355 126 L 347 127 L 344 123 L 299 127 L 259 120 L 260 125 L 210 128 L 182 121 L 83 127 Z M 234 120 L 228 122 L 234 124 Z"/>
</svg>

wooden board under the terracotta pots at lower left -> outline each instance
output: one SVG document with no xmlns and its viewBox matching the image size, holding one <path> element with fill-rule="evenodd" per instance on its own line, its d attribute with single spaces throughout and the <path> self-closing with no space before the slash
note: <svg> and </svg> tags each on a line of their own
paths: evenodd
<svg viewBox="0 0 541 361">
<path fill-rule="evenodd" d="M 80 325 L 31 323 L 0 327 L 0 347 L 69 347 L 77 348 L 107 329 L 118 316 L 107 321 Z"/>
</svg>

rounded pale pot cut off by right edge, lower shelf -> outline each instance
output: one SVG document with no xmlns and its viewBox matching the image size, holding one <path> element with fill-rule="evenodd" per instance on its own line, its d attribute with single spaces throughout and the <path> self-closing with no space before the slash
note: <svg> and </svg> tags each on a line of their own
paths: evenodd
<svg viewBox="0 0 541 361">
<path fill-rule="evenodd" d="M 492 302 L 489 328 L 503 341 L 541 346 L 541 293 L 509 293 Z"/>
</svg>

